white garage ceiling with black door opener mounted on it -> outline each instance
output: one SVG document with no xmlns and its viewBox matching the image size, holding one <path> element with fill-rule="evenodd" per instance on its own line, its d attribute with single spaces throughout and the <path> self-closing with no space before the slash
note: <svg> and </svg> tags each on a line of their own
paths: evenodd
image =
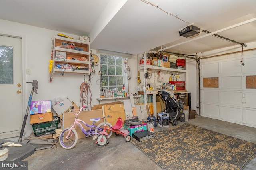
<svg viewBox="0 0 256 170">
<path fill-rule="evenodd" d="M 236 42 L 256 41 L 256 0 L 0 0 L 0 18 L 87 35 L 91 49 L 133 55 L 166 47 L 166 52 L 194 54 L 236 45 L 204 32 L 179 36 L 188 24 Z M 225 30 L 247 20 L 254 21 Z"/>
</svg>

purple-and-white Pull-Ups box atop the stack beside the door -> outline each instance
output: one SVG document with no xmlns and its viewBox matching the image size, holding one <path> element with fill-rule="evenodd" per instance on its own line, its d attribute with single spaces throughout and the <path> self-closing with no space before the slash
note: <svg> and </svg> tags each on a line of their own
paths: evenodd
<svg viewBox="0 0 256 170">
<path fill-rule="evenodd" d="M 31 101 L 30 103 L 30 115 L 38 113 L 52 112 L 52 101 Z"/>
</svg>

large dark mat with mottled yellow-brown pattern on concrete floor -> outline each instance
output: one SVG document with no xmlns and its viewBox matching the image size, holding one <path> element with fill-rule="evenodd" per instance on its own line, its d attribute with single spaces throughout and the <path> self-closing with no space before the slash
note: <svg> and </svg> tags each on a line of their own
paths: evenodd
<svg viewBox="0 0 256 170">
<path fill-rule="evenodd" d="M 131 142 L 166 170 L 240 169 L 256 150 L 251 142 L 187 123 Z"/>
</svg>

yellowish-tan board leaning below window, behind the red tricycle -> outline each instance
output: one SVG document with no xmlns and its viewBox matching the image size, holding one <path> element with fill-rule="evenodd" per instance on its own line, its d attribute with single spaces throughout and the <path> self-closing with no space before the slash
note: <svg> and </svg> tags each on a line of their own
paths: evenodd
<svg viewBox="0 0 256 170">
<path fill-rule="evenodd" d="M 111 125 L 115 125 L 119 117 L 123 119 L 123 123 L 124 123 L 124 120 L 125 120 L 124 104 L 104 105 L 102 109 L 103 109 L 104 116 L 107 116 L 107 115 L 112 116 L 107 118 L 107 122 L 111 123 Z"/>
</svg>

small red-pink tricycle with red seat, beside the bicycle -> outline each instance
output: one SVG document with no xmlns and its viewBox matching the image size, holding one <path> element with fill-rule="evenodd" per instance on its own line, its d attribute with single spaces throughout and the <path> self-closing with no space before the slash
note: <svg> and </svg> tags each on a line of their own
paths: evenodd
<svg viewBox="0 0 256 170">
<path fill-rule="evenodd" d="M 131 135 L 129 134 L 129 131 L 122 128 L 123 119 L 121 117 L 119 117 L 118 120 L 116 121 L 116 124 L 114 126 L 112 126 L 111 128 L 108 128 L 106 125 L 107 117 L 112 117 L 112 116 L 108 115 L 106 117 L 101 118 L 101 119 L 105 119 L 105 124 L 104 124 L 103 131 L 100 132 L 100 134 L 102 134 L 102 135 L 98 135 L 97 141 L 95 143 L 97 143 L 99 146 L 106 146 L 108 144 L 108 133 L 106 132 L 106 130 L 112 131 L 116 135 L 121 134 L 122 136 L 124 136 L 125 142 L 130 142 Z"/>
</svg>

